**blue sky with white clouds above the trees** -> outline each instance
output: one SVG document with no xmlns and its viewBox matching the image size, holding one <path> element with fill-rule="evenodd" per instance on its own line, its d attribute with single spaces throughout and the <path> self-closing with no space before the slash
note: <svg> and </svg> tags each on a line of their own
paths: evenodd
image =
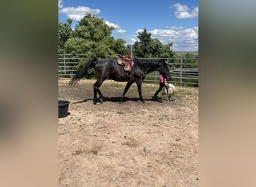
<svg viewBox="0 0 256 187">
<path fill-rule="evenodd" d="M 112 36 L 132 44 L 138 31 L 147 29 L 151 38 L 163 44 L 174 43 L 171 49 L 182 52 L 198 51 L 198 1 L 117 1 L 117 0 L 58 0 L 58 21 L 73 19 L 73 28 L 86 13 L 103 18 L 115 27 Z"/>
</svg>

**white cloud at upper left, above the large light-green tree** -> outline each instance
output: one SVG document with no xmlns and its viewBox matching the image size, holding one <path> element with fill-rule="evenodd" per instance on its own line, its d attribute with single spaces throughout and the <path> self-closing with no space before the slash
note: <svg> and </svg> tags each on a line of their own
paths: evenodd
<svg viewBox="0 0 256 187">
<path fill-rule="evenodd" d="M 100 9 L 92 9 L 91 7 L 64 7 L 59 13 L 66 14 L 68 18 L 79 21 L 82 19 L 86 13 L 98 14 L 100 13 Z"/>
</svg>

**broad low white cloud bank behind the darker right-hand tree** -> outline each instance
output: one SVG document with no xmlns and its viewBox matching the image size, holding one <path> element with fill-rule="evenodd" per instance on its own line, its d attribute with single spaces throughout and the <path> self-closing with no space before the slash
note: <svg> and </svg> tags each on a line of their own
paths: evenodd
<svg viewBox="0 0 256 187">
<path fill-rule="evenodd" d="M 171 29 L 173 28 L 173 29 Z M 143 31 L 139 29 L 136 31 L 136 36 L 139 31 Z M 151 33 L 151 38 L 156 38 L 161 41 L 163 44 L 167 44 L 172 42 L 173 45 L 171 49 L 174 51 L 187 51 L 194 52 L 198 51 L 198 27 L 193 28 L 183 28 L 183 27 L 170 27 L 170 29 L 161 30 L 154 29 L 153 31 L 147 31 Z M 133 36 L 129 44 L 135 43 L 138 41 L 138 38 Z"/>
</svg>

